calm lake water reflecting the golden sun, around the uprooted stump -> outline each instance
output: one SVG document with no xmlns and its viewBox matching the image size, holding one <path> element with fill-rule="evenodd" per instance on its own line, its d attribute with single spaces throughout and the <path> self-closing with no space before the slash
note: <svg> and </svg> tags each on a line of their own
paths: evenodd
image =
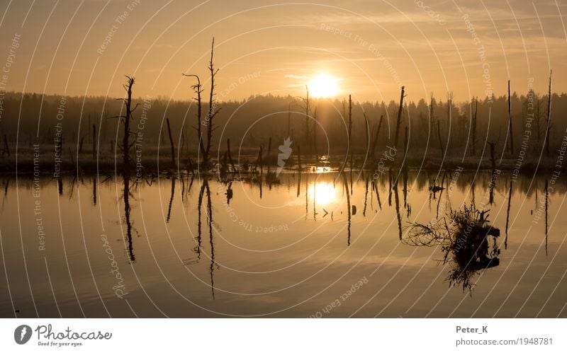
<svg viewBox="0 0 567 353">
<path fill-rule="evenodd" d="M 565 178 L 510 176 L 4 175 L 0 316 L 565 318 Z M 471 204 L 500 236 L 467 287 L 408 231 Z"/>
</svg>

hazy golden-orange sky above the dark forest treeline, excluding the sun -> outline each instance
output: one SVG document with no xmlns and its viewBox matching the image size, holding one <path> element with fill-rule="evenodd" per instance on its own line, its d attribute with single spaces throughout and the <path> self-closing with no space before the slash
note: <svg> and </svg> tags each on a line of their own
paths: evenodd
<svg viewBox="0 0 567 353">
<path fill-rule="evenodd" d="M 325 73 L 339 98 L 399 99 L 401 83 L 410 100 L 468 100 L 508 78 L 546 91 L 550 68 L 567 91 L 566 14 L 565 0 L 1 0 L 0 65 L 7 91 L 120 96 L 129 74 L 135 96 L 187 99 L 181 73 L 208 79 L 214 36 L 220 99 L 298 96 Z"/>
</svg>

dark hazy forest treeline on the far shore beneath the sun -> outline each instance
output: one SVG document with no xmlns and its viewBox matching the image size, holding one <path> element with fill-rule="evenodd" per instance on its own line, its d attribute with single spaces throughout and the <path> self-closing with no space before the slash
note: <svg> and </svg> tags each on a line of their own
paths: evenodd
<svg viewBox="0 0 567 353">
<path fill-rule="evenodd" d="M 133 113 L 130 131 L 133 140 L 140 140 L 145 154 L 156 151 L 158 144 L 160 149 L 169 149 L 167 118 L 181 157 L 196 155 L 197 105 L 191 89 L 187 96 L 187 100 L 133 99 L 133 103 L 140 103 L 140 107 Z M 485 141 L 488 141 L 495 144 L 498 156 L 505 151 L 506 156 L 515 158 L 523 144 L 528 158 L 539 158 L 542 151 L 545 156 L 548 97 L 534 92 L 512 93 L 510 96 L 512 141 L 515 144 L 511 154 L 510 137 L 507 137 L 510 127 L 507 96 L 454 103 L 447 94 L 434 96 L 430 101 L 415 101 L 411 99 L 411 91 L 406 91 L 400 140 L 408 127 L 409 156 L 422 156 L 426 146 L 435 158 L 441 157 L 441 149 L 447 150 L 447 156 L 464 156 L 465 149 L 466 156 L 480 156 Z M 309 152 L 316 146 L 319 155 L 344 154 L 349 132 L 348 96 L 345 100 L 311 98 L 309 105 L 306 110 L 303 97 L 271 95 L 215 103 L 215 108 L 220 110 L 215 117 L 212 149 L 225 149 L 226 140 L 230 139 L 233 153 L 241 148 L 242 151 L 256 151 L 259 146 L 267 145 L 270 138 L 274 139 L 274 146 L 278 146 L 283 139 L 291 137 L 292 148 L 300 146 L 301 151 Z M 399 102 L 394 100 L 389 103 L 352 102 L 351 148 L 354 154 L 364 153 L 375 139 L 376 149 L 393 145 L 398 108 Z M 72 146 L 74 151 L 79 149 L 90 154 L 93 139 L 97 139 L 101 153 L 115 151 L 116 141 L 123 136 L 123 124 L 113 119 L 124 113 L 123 101 L 114 98 L 62 98 L 10 92 L 5 93 L 3 109 L 0 129 L 11 150 L 15 149 L 16 138 L 21 151 L 33 144 L 49 150 L 50 145 L 56 144 L 56 135 L 60 134 L 64 149 Z M 567 94 L 553 94 L 549 129 L 551 151 L 560 146 L 566 135 L 566 112 Z M 381 117 L 383 122 L 380 124 Z M 476 129 L 473 129 L 475 121 Z M 485 156 L 487 154 L 488 147 Z"/>
</svg>

